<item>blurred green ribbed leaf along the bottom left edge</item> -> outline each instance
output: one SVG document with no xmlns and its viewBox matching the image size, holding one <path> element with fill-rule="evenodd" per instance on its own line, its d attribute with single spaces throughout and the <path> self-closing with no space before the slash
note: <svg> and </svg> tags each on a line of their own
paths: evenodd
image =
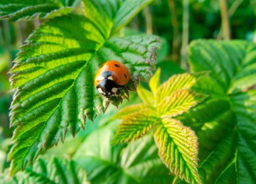
<svg viewBox="0 0 256 184">
<path fill-rule="evenodd" d="M 40 158 L 33 167 L 28 167 L 24 173 L 18 173 L 10 181 L 8 175 L 0 176 L 1 183 L 89 183 L 86 179 L 86 172 L 73 160 L 61 158 Z"/>
</svg>

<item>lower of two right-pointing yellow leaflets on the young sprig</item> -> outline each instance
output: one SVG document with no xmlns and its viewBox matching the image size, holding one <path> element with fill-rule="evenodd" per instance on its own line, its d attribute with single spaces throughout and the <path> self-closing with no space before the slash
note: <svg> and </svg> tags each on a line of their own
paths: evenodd
<svg viewBox="0 0 256 184">
<path fill-rule="evenodd" d="M 191 107 L 197 105 L 207 97 L 207 95 L 195 93 L 188 89 L 179 89 L 165 97 L 156 107 L 159 116 L 173 118 L 179 116 Z"/>
</svg>

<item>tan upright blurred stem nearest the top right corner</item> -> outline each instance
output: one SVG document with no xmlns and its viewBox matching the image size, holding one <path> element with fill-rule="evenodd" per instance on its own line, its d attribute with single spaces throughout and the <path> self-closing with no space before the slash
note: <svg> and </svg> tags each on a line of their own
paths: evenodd
<svg viewBox="0 0 256 184">
<path fill-rule="evenodd" d="M 226 0 L 220 0 L 220 14 L 222 17 L 222 32 L 224 40 L 230 40 L 230 25 Z"/>
</svg>

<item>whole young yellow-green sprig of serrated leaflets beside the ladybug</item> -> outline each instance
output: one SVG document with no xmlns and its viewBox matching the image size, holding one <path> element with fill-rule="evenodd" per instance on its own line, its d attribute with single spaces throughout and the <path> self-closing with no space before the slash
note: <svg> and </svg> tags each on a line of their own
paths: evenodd
<svg viewBox="0 0 256 184">
<path fill-rule="evenodd" d="M 191 91 L 206 73 L 174 75 L 160 85 L 160 70 L 150 79 L 152 92 L 138 88 L 143 103 L 125 107 L 115 118 L 123 119 L 113 144 L 130 142 L 154 131 L 158 155 L 170 172 L 189 183 L 201 183 L 197 172 L 197 136 L 175 117 L 205 99 Z"/>
</svg>

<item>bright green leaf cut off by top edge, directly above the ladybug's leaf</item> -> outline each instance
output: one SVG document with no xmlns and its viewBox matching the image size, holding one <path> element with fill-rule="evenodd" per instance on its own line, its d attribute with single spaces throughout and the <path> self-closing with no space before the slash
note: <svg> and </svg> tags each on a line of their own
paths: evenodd
<svg viewBox="0 0 256 184">
<path fill-rule="evenodd" d="M 116 34 L 152 0 L 100 1 L 83 0 L 86 17 L 107 35 Z M 98 17 L 103 17 L 98 20 Z"/>
</svg>

